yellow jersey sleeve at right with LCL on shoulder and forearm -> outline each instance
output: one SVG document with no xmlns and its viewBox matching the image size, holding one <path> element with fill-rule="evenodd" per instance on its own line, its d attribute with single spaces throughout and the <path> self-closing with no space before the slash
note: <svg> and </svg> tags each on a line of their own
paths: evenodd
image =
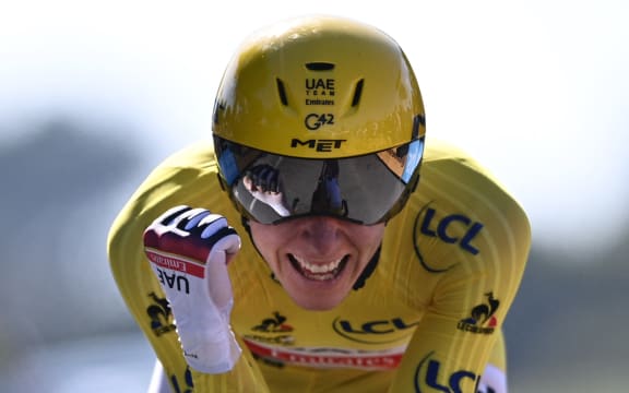
<svg viewBox="0 0 629 393">
<path fill-rule="evenodd" d="M 529 219 L 464 156 L 435 157 L 422 176 L 416 285 L 434 287 L 390 392 L 476 392 L 522 279 Z"/>
</svg>

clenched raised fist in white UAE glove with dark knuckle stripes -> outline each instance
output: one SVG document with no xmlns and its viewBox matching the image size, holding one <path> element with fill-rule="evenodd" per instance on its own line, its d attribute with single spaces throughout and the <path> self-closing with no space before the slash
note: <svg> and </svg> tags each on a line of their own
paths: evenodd
<svg viewBox="0 0 629 393">
<path fill-rule="evenodd" d="M 204 209 L 173 207 L 144 231 L 144 251 L 170 303 L 183 356 L 201 372 L 229 371 L 240 356 L 229 326 L 227 274 L 239 248 L 225 217 Z"/>
</svg>

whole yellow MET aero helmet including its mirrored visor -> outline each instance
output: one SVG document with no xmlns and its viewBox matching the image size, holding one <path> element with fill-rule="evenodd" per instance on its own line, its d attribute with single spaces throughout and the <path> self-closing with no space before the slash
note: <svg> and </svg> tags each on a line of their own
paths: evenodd
<svg viewBox="0 0 629 393">
<path fill-rule="evenodd" d="M 247 40 L 223 75 L 213 131 L 221 182 L 246 218 L 364 225 L 404 206 L 426 132 L 400 46 L 332 16 L 292 20 Z"/>
</svg>

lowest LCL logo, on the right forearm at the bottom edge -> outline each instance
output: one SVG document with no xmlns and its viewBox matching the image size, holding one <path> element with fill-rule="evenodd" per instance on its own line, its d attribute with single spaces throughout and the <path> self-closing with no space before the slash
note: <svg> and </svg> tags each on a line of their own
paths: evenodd
<svg viewBox="0 0 629 393">
<path fill-rule="evenodd" d="M 432 359 L 431 352 L 419 364 L 415 369 L 415 392 L 444 392 L 444 393 L 462 393 L 464 392 L 463 385 L 473 383 L 476 386 L 478 383 L 478 376 L 472 371 L 459 370 L 444 376 L 440 370 L 441 362 L 439 360 Z M 470 381 L 466 381 L 470 380 Z M 467 383 L 465 383 L 467 382 Z M 476 389 L 474 389 L 474 392 Z M 468 388 L 465 392 L 472 392 Z"/>
</svg>

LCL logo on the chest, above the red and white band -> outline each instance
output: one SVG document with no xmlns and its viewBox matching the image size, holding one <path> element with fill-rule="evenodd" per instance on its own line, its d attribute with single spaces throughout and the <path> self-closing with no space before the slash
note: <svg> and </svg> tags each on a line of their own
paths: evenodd
<svg viewBox="0 0 629 393">
<path fill-rule="evenodd" d="M 349 321 L 341 318 L 334 319 L 332 329 L 336 334 L 363 344 L 384 344 L 395 342 L 402 336 L 411 335 L 413 327 L 419 322 L 407 322 L 402 318 L 373 320 L 367 322 Z M 407 334 L 400 334 L 407 332 Z"/>
</svg>

